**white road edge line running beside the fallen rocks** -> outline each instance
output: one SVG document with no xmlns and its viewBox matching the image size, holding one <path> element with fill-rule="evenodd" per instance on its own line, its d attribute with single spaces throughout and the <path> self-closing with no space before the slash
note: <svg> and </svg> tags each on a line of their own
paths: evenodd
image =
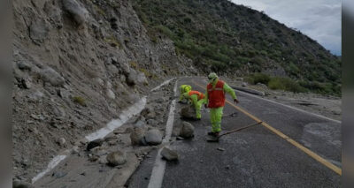
<svg viewBox="0 0 354 188">
<path fill-rule="evenodd" d="M 174 84 L 173 87 L 174 96 L 176 96 L 177 93 L 177 83 L 178 80 L 176 80 L 176 83 Z M 163 143 L 167 143 L 171 139 L 175 108 L 176 108 L 176 100 L 174 99 L 171 102 L 170 112 L 168 114 L 168 119 L 167 119 L 166 129 L 165 129 L 165 139 L 163 140 Z M 160 188 L 162 186 L 162 180 L 164 179 L 164 174 L 165 174 L 165 161 L 161 159 L 161 154 L 160 154 L 161 150 L 162 148 L 158 150 L 158 154 L 156 155 L 156 160 L 151 172 L 148 188 Z"/>
</svg>

